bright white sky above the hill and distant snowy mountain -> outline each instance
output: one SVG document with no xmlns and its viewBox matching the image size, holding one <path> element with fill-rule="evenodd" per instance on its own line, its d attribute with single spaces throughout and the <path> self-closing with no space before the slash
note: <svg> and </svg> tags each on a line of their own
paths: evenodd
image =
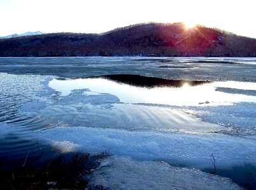
<svg viewBox="0 0 256 190">
<path fill-rule="evenodd" d="M 0 36 L 187 22 L 256 38 L 256 0 L 0 0 Z"/>
</svg>

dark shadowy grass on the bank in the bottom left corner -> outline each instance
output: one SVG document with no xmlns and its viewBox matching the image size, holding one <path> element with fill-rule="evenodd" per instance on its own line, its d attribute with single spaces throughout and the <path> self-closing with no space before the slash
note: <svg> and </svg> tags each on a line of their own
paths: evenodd
<svg viewBox="0 0 256 190">
<path fill-rule="evenodd" d="M 44 163 L 29 162 L 28 156 L 29 153 L 20 167 L 4 169 L 8 161 L 1 162 L 0 189 L 84 189 L 88 184 L 86 175 L 95 168 L 98 158 L 107 155 L 90 156 L 79 151 L 58 155 Z"/>
</svg>

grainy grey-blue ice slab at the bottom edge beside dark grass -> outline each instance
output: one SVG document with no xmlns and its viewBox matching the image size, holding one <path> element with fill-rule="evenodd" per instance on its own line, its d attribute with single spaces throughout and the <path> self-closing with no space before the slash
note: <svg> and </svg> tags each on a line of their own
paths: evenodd
<svg viewBox="0 0 256 190">
<path fill-rule="evenodd" d="M 165 162 L 135 162 L 109 157 L 90 178 L 89 188 L 104 189 L 241 189 L 229 179 Z"/>
</svg>

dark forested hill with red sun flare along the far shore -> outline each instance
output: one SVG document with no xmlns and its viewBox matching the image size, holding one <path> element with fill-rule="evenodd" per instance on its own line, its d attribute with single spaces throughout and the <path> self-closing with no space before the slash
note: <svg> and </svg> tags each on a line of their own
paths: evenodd
<svg viewBox="0 0 256 190">
<path fill-rule="evenodd" d="M 183 23 L 147 23 L 104 34 L 0 39 L 0 56 L 256 56 L 256 39 Z"/>
</svg>

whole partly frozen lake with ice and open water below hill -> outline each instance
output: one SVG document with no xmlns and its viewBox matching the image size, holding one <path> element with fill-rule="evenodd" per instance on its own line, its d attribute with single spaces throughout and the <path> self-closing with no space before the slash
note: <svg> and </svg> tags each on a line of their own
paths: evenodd
<svg viewBox="0 0 256 190">
<path fill-rule="evenodd" d="M 256 58 L 0 58 L 0 92 L 10 160 L 109 150 L 91 186 L 255 187 Z"/>
</svg>

